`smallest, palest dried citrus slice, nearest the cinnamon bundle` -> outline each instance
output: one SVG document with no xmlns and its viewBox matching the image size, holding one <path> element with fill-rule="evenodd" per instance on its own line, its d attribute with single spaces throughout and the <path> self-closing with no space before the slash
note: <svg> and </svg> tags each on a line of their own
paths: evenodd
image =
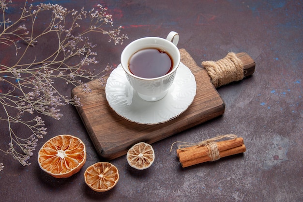
<svg viewBox="0 0 303 202">
<path fill-rule="evenodd" d="M 151 145 L 145 142 L 139 142 L 128 150 L 126 159 L 131 167 L 143 170 L 152 165 L 155 154 Z"/>
</svg>

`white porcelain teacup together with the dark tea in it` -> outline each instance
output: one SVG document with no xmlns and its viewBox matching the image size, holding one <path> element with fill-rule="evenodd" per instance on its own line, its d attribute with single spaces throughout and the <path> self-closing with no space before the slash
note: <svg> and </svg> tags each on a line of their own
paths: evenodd
<svg viewBox="0 0 303 202">
<path fill-rule="evenodd" d="M 181 56 L 179 34 L 167 38 L 145 37 L 127 45 L 121 54 L 121 66 L 130 85 L 146 101 L 162 99 L 174 81 Z"/>
</svg>

